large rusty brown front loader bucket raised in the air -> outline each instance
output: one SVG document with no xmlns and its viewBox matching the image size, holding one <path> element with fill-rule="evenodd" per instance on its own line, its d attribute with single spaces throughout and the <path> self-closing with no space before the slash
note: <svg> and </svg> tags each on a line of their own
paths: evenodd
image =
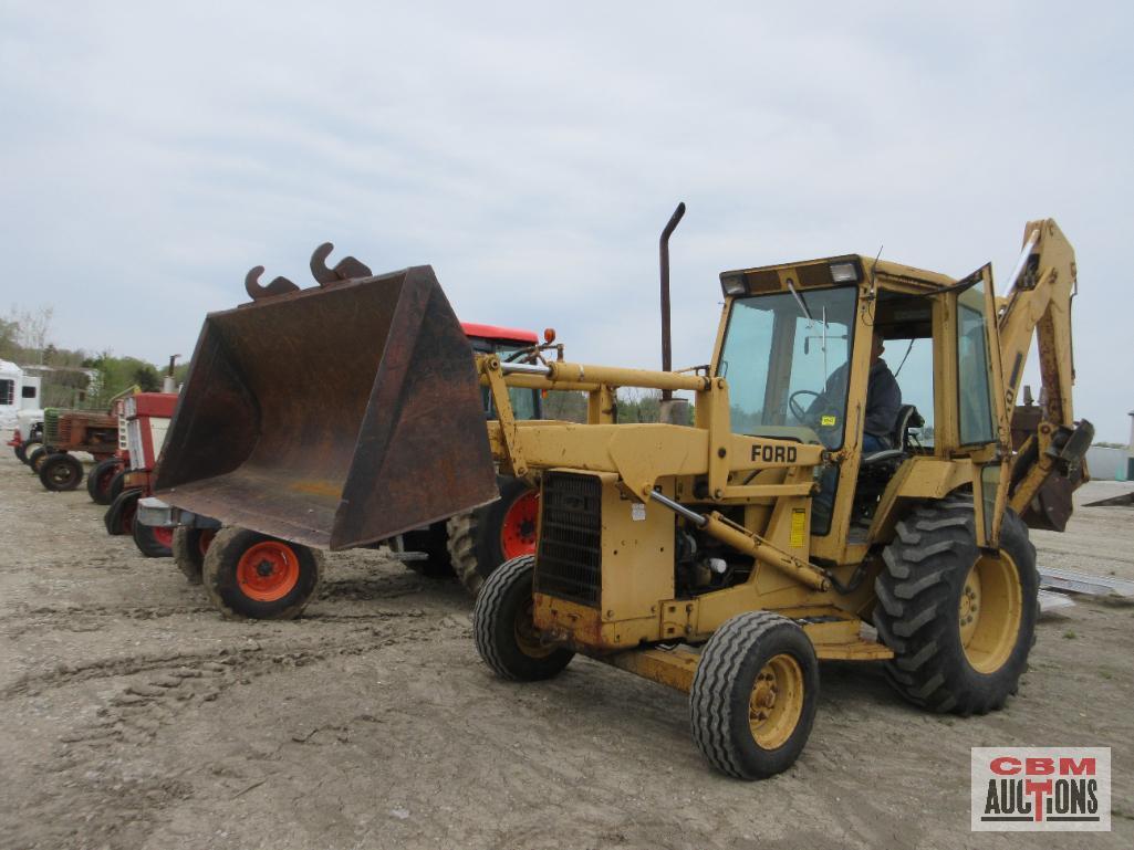
<svg viewBox="0 0 1134 850">
<path fill-rule="evenodd" d="M 324 549 L 496 499 L 472 350 L 432 267 L 209 314 L 154 490 Z"/>
</svg>

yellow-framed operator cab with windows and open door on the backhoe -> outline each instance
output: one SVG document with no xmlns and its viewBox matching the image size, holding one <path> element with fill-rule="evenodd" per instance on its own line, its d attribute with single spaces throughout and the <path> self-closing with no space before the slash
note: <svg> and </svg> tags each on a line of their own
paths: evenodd
<svg viewBox="0 0 1134 850">
<path fill-rule="evenodd" d="M 712 374 L 728 382 L 731 430 L 830 452 L 815 470 L 820 486 L 812 500 L 813 538 L 828 535 L 836 521 L 844 529 L 869 524 L 907 459 L 947 451 L 934 415 L 955 407 L 937 398 L 942 368 L 955 369 L 962 388 L 959 428 L 951 422 L 950 428 L 964 431 L 967 419 L 981 425 L 982 442 L 991 441 L 982 342 L 991 283 L 987 269 L 958 283 L 848 255 L 723 272 L 720 280 L 726 311 Z M 963 326 L 966 315 L 973 317 L 971 333 Z M 882 448 L 868 449 L 864 423 L 875 333 L 902 405 L 888 433 L 877 435 Z M 951 360 L 948 366 L 942 355 Z M 978 442 L 962 436 L 950 431 L 946 442 Z M 846 487 L 854 493 L 850 504 L 837 498 Z M 813 545 L 821 547 L 818 541 Z"/>
</svg>

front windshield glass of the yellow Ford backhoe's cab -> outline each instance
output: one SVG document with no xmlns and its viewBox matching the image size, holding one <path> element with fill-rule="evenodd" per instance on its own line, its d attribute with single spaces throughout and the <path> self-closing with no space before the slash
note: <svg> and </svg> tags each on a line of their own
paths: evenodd
<svg viewBox="0 0 1134 850">
<path fill-rule="evenodd" d="M 855 287 L 733 301 L 717 374 L 733 431 L 843 445 Z"/>
</svg>

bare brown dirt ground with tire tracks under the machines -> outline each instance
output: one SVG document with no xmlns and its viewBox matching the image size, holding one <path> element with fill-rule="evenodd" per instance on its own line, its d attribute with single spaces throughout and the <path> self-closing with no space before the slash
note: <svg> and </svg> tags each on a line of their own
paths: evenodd
<svg viewBox="0 0 1134 850">
<path fill-rule="evenodd" d="M 347 553 L 302 620 L 228 622 L 101 516 L 5 450 L 2 848 L 1134 845 L 1132 605 L 1044 617 L 1019 696 L 987 717 L 824 665 L 802 758 L 750 784 L 709 771 L 680 694 L 581 658 L 494 679 L 454 581 Z M 1033 536 L 1040 562 L 1134 579 L 1132 520 L 1082 509 Z M 1051 745 L 1112 748 L 1114 831 L 971 833 L 970 747 Z"/>
</svg>

